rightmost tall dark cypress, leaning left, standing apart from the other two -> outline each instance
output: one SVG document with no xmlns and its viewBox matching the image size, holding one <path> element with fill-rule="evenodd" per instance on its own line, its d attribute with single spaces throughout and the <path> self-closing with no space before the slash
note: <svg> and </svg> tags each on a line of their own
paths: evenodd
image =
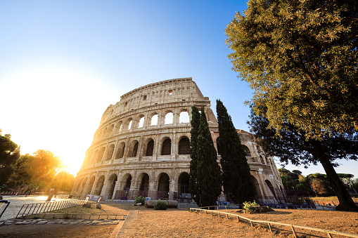
<svg viewBox="0 0 358 238">
<path fill-rule="evenodd" d="M 224 193 L 238 204 L 253 201 L 255 187 L 250 180 L 250 166 L 245 150 L 221 100 L 217 100 L 217 121 Z"/>
</svg>

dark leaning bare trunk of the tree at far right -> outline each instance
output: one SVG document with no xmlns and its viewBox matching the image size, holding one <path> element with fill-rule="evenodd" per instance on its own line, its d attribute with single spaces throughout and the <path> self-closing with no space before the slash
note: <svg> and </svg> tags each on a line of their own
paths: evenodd
<svg viewBox="0 0 358 238">
<path fill-rule="evenodd" d="M 314 143 L 314 150 L 317 159 L 319 159 L 322 166 L 324 167 L 324 171 L 326 171 L 327 178 L 331 183 L 335 195 L 338 197 L 339 205 L 335 208 L 335 210 L 358 211 L 358 206 L 354 204 L 352 197 L 350 197 L 350 194 L 338 177 L 338 174 L 335 172 L 331 161 L 329 161 L 329 157 L 324 153 L 321 142 L 317 141 Z"/>
</svg>

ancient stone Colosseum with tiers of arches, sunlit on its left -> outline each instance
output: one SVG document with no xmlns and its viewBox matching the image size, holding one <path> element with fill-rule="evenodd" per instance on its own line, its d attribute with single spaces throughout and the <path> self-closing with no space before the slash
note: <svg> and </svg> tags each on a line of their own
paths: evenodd
<svg viewBox="0 0 358 238">
<path fill-rule="evenodd" d="M 203 105 L 217 149 L 219 129 L 204 97 L 191 78 L 170 79 L 136 88 L 103 113 L 94 140 L 77 173 L 75 197 L 191 201 L 189 142 L 191 107 Z M 250 133 L 238 130 L 250 165 L 256 201 L 285 202 L 274 160 L 266 157 Z M 217 155 L 220 162 L 220 155 Z M 222 194 L 219 199 L 225 201 Z"/>
</svg>

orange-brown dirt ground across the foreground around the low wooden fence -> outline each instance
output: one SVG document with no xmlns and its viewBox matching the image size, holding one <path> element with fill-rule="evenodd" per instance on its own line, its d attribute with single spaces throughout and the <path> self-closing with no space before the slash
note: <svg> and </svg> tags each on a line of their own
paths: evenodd
<svg viewBox="0 0 358 238">
<path fill-rule="evenodd" d="M 283 227 L 274 227 L 273 232 L 270 232 L 267 226 L 254 224 L 254 227 L 251 227 L 250 223 L 238 223 L 237 220 L 226 220 L 210 214 L 190 213 L 187 209 L 154 211 L 143 207 L 108 205 L 103 206 L 102 212 L 123 213 L 132 209 L 143 209 L 130 211 L 117 237 L 293 237 L 287 228 L 286 232 L 277 229 Z M 275 209 L 269 213 L 256 214 L 238 213 L 237 210 L 227 211 L 255 220 L 278 221 L 358 234 L 358 213 L 289 209 Z M 111 232 L 115 228 L 116 225 L 3 225 L 0 226 L 0 237 L 113 237 Z M 314 235 L 327 237 L 324 233 Z M 298 237 L 310 236 L 298 234 Z"/>
</svg>

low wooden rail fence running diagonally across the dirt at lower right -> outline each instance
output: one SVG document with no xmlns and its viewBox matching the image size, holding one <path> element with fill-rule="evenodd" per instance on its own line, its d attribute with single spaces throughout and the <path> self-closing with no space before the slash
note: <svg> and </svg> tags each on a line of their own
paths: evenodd
<svg viewBox="0 0 358 238">
<path fill-rule="evenodd" d="M 207 209 L 210 209 L 210 207 L 217 207 L 217 206 L 205 206 L 205 208 Z M 312 230 L 312 231 L 317 231 L 317 232 L 324 232 L 328 235 L 329 238 L 332 237 L 332 234 L 340 234 L 340 235 L 343 235 L 345 237 L 355 237 L 355 238 L 358 238 L 358 234 L 348 234 L 348 233 L 344 233 L 344 232 L 336 232 L 336 231 L 333 231 L 333 230 L 324 230 L 324 229 L 320 229 L 320 228 L 314 228 L 314 227 L 304 227 L 304 226 L 301 226 L 301 225 L 292 225 L 292 224 L 286 224 L 286 223 L 278 223 L 278 222 L 274 222 L 274 221 L 267 221 L 267 220 L 252 220 L 252 219 L 249 219 L 249 218 L 245 218 L 244 216 L 240 216 L 240 215 L 236 215 L 236 214 L 233 214 L 233 213 L 225 213 L 225 212 L 222 212 L 222 211 L 215 211 L 215 210 L 207 210 L 207 209 L 189 209 L 189 211 L 193 212 L 193 211 L 198 211 L 200 213 L 203 213 L 205 212 L 205 214 L 211 214 L 212 216 L 215 215 L 218 215 L 219 217 L 221 217 L 222 215 L 224 217 L 226 217 L 226 219 L 229 220 L 229 218 L 236 218 L 238 220 L 238 222 L 240 220 L 245 220 L 247 222 L 249 222 L 251 224 L 251 226 L 253 227 L 253 223 L 258 223 L 258 224 L 262 224 L 262 225 L 267 225 L 269 227 L 269 230 L 272 231 L 272 227 L 271 225 L 283 225 L 283 226 L 286 226 L 286 227 L 290 227 L 292 232 L 293 232 L 293 235 L 294 237 L 297 237 L 297 232 L 295 231 L 295 228 L 298 228 L 298 229 L 304 229 L 304 230 Z"/>
</svg>

